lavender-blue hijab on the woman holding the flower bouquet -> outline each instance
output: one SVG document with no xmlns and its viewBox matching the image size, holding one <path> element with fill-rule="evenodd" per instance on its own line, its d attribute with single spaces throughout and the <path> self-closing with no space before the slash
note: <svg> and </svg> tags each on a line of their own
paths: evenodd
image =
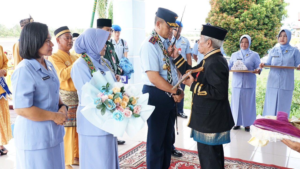
<svg viewBox="0 0 300 169">
<path fill-rule="evenodd" d="M 76 38 L 74 50 L 77 54 L 86 53 L 89 57 L 99 59 L 101 57 L 100 51 L 103 49 L 109 34 L 110 32 L 103 29 L 85 29 Z"/>
</svg>

